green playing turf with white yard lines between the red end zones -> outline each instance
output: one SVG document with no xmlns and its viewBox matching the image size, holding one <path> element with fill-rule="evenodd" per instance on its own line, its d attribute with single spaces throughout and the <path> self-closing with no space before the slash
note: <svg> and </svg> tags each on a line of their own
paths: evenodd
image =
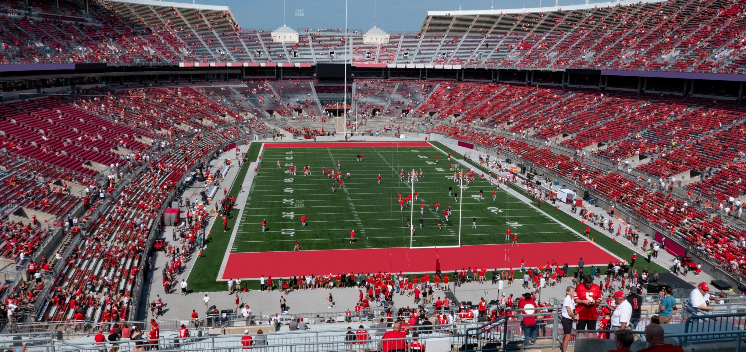
<svg viewBox="0 0 746 352">
<path fill-rule="evenodd" d="M 356 161 L 358 153 L 363 161 Z M 440 156 L 439 163 L 435 157 Z M 460 194 L 463 196 L 463 223 L 459 226 L 459 202 L 448 196 L 448 187 L 459 188 L 448 170 L 448 160 L 433 147 L 365 147 L 365 148 L 269 148 L 263 150 L 259 175 L 254 177 L 251 198 L 245 205 L 232 252 L 275 252 L 292 250 L 297 240 L 301 249 L 408 247 L 410 234 L 406 218 L 411 207 L 401 210 L 398 193 L 411 193 L 412 184 L 399 180 L 399 173 L 424 170 L 424 177 L 415 184 L 419 199 L 413 202 L 416 234 L 412 246 L 456 246 L 461 231 L 461 244 L 510 243 L 505 230 L 513 227 L 519 243 L 561 242 L 582 240 L 577 234 L 560 226 L 505 191 L 498 191 L 492 200 L 489 182 L 477 179 Z M 280 168 L 276 161 L 280 160 Z M 345 187 L 332 193 L 332 179 L 323 176 L 322 167 L 336 169 L 341 161 Z M 451 161 L 454 163 L 454 161 Z M 291 166 L 310 165 L 312 175 L 286 173 Z M 454 163 L 455 164 L 455 163 Z M 377 184 L 377 176 L 382 182 Z M 477 173 L 478 174 L 478 173 Z M 449 179 L 451 177 L 451 179 Z M 406 179 L 406 177 L 405 177 Z M 479 191 L 484 199 L 477 199 Z M 440 203 L 436 213 L 434 205 Z M 420 214 L 420 204 L 425 205 Z M 451 206 L 453 216 L 444 228 L 437 228 L 443 211 Z M 301 215 L 307 217 L 301 227 Z M 419 228 L 423 217 L 424 228 Z M 472 217 L 477 229 L 471 228 Z M 267 221 L 267 231 L 260 223 Z M 356 243 L 349 243 L 349 233 L 355 230 Z M 229 230 L 230 231 L 230 230 Z"/>
</svg>

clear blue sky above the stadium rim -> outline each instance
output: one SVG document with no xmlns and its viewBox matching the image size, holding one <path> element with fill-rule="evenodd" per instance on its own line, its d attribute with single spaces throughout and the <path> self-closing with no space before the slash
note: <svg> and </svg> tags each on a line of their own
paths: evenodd
<svg viewBox="0 0 746 352">
<path fill-rule="evenodd" d="M 174 0 L 171 0 L 174 1 Z M 226 0 L 195 0 L 197 4 L 224 5 Z M 242 28 L 275 29 L 283 22 L 283 1 L 227 0 Z M 582 4 L 583 0 L 559 0 L 560 6 Z M 608 1 L 608 0 L 607 0 Z M 176 0 L 188 2 L 190 0 Z M 599 2 L 599 0 L 591 0 Z M 378 28 L 386 32 L 419 31 L 425 13 L 458 10 L 458 0 L 377 0 Z M 462 1 L 463 10 L 489 10 L 492 0 Z M 539 0 L 495 0 L 495 9 L 539 7 Z M 554 5 L 554 0 L 541 0 L 542 6 Z M 343 28 L 344 0 L 287 0 L 287 25 L 290 28 Z M 298 16 L 296 16 L 296 14 Z M 404 15 L 404 16 L 402 16 Z M 373 1 L 348 0 L 348 28 L 367 31 L 373 27 Z"/>
</svg>

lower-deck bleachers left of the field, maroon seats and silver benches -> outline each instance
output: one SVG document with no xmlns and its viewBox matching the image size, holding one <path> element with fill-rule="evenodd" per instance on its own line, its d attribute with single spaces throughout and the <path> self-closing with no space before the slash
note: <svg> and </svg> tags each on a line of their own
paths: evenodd
<svg viewBox="0 0 746 352">
<path fill-rule="evenodd" d="M 0 194 L 4 199 L 0 205 L 0 255 L 14 260 L 31 257 L 51 234 L 50 224 L 41 221 L 29 225 L 7 220 L 7 212 L 17 205 L 60 220 L 67 219 L 81 198 L 87 205 L 78 223 L 85 231 L 84 240 L 69 244 L 75 246 L 69 257 L 42 259 L 40 263 L 63 262 L 63 269 L 53 273 L 54 284 L 46 297 L 51 299 L 45 299 L 37 312 L 43 320 L 72 319 L 75 308 L 82 304 L 88 307 L 87 319 L 125 317 L 128 307 L 123 302 L 131 297 L 149 230 L 157 225 L 156 215 L 165 196 L 184 171 L 210 150 L 243 138 L 245 132 L 266 131 L 262 122 L 245 121 L 192 87 L 120 92 L 91 89 L 82 93 L 0 106 L 0 182 L 4 185 Z M 222 114 L 236 119 L 229 124 Z M 159 141 L 158 135 L 165 138 Z M 172 149 L 159 156 L 164 146 Z M 100 185 L 99 180 L 106 178 L 99 178 L 98 170 L 82 166 L 89 161 L 107 168 L 109 164 L 127 165 L 131 175 L 122 191 L 104 192 L 108 185 Z M 147 167 L 136 172 L 142 164 Z M 110 198 L 107 208 L 98 209 L 99 202 L 84 192 L 69 194 L 62 186 L 52 185 L 57 179 L 91 186 L 95 199 L 100 189 Z M 94 218 L 95 210 L 101 213 Z M 78 231 L 72 226 L 61 242 L 67 245 Z M 25 261 L 19 263 L 25 265 Z M 29 282 L 29 287 L 22 295 L 13 290 L 11 297 L 19 304 L 34 304 L 44 285 Z"/>
</svg>

